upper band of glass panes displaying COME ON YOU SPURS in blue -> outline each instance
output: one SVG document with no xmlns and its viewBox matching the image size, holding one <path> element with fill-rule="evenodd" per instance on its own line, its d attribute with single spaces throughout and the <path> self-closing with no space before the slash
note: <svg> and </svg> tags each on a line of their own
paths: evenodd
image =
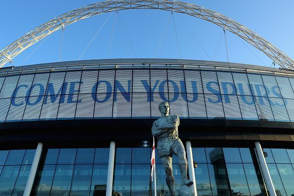
<svg viewBox="0 0 294 196">
<path fill-rule="evenodd" d="M 107 66 L 0 76 L 0 122 L 157 118 L 161 101 L 181 118 L 294 122 L 290 74 Z"/>
</svg>

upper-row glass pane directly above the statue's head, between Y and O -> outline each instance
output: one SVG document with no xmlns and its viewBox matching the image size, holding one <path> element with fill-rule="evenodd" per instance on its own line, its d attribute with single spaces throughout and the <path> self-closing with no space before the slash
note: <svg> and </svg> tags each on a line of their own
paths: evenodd
<svg viewBox="0 0 294 196">
<path fill-rule="evenodd" d="M 168 93 L 167 73 L 165 69 L 151 69 L 151 93 Z M 151 98 L 152 99 L 152 98 Z"/>
</svg>

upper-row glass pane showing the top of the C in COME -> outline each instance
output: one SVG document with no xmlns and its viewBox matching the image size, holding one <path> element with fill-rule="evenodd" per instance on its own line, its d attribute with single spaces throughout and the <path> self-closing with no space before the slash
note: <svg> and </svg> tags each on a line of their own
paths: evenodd
<svg viewBox="0 0 294 196">
<path fill-rule="evenodd" d="M 26 97 L 29 95 L 30 87 L 32 86 L 35 74 L 20 75 L 17 83 L 17 92 L 14 92 L 13 97 Z M 28 94 L 27 94 L 28 93 Z"/>
</svg>

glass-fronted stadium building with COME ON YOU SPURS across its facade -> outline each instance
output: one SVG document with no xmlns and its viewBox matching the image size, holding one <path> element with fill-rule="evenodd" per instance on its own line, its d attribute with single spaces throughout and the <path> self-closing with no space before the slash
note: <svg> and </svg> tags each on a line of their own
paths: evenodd
<svg viewBox="0 0 294 196">
<path fill-rule="evenodd" d="M 111 142 L 113 195 L 151 194 L 150 129 L 161 101 L 180 116 L 180 138 L 192 144 L 198 196 L 266 196 L 255 142 L 276 194 L 294 194 L 293 71 L 198 60 L 85 60 L 2 68 L 0 87 L 1 196 L 23 195 L 38 143 L 31 195 L 105 195 Z M 156 157 L 157 193 L 168 195 Z M 179 190 L 176 157 L 173 163 Z"/>
</svg>

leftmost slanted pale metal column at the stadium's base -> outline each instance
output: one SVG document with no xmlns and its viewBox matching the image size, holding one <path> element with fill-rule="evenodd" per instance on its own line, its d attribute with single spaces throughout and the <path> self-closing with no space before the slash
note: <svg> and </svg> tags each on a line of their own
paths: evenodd
<svg viewBox="0 0 294 196">
<path fill-rule="evenodd" d="M 40 162 L 40 157 L 41 157 L 41 154 L 42 154 L 42 149 L 43 149 L 43 144 L 38 143 L 38 146 L 37 146 L 37 149 L 36 149 L 36 152 L 35 152 L 35 156 L 34 156 L 34 159 L 33 159 L 33 164 L 32 164 L 31 170 L 30 170 L 30 174 L 29 174 L 29 177 L 28 177 L 28 181 L 27 181 L 23 196 L 30 196 L 30 194 L 31 194 L 33 184 L 34 184 L 34 181 L 35 181 L 35 177 L 36 177 L 36 174 L 37 174 L 38 165 L 39 165 L 39 162 Z"/>
</svg>

